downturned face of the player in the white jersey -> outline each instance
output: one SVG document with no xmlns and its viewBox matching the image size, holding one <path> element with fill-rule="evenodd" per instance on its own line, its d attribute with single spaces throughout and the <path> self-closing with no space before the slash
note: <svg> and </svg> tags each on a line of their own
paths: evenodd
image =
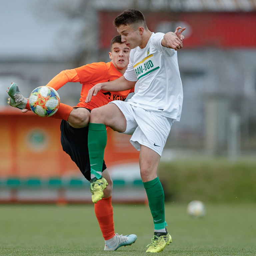
<svg viewBox="0 0 256 256">
<path fill-rule="evenodd" d="M 130 25 L 120 25 L 117 28 L 117 32 L 121 35 L 122 42 L 126 44 L 130 49 L 134 49 L 141 45 L 141 27 L 137 29 Z"/>
</svg>

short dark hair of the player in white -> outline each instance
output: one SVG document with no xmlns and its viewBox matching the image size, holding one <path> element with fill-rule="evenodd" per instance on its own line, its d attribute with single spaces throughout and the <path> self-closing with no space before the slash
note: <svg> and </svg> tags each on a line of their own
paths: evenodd
<svg viewBox="0 0 256 256">
<path fill-rule="evenodd" d="M 120 25 L 126 26 L 132 24 L 137 24 L 138 26 L 147 28 L 143 13 L 135 9 L 128 9 L 122 12 L 114 19 L 113 23 L 116 28 L 118 28 Z"/>
</svg>

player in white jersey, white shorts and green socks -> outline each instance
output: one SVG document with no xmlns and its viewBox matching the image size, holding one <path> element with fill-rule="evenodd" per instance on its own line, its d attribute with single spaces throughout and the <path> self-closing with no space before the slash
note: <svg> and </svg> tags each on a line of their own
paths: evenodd
<svg viewBox="0 0 256 256">
<path fill-rule="evenodd" d="M 127 102 L 112 101 L 92 110 L 88 134 L 91 178 L 104 179 L 101 170 L 106 126 L 132 134 L 130 142 L 140 150 L 140 174 L 154 223 L 154 236 L 146 252 L 160 252 L 172 240 L 165 227 L 164 191 L 157 168 L 171 126 L 180 120 L 183 91 L 176 50 L 183 47 L 181 33 L 185 28 L 152 33 L 144 15 L 134 9 L 117 16 L 114 25 L 122 42 L 131 49 L 127 70 L 114 81 L 93 86 L 86 102 L 100 90 L 121 91 L 135 86 L 135 94 Z M 98 194 L 100 200 L 103 192 Z"/>
</svg>

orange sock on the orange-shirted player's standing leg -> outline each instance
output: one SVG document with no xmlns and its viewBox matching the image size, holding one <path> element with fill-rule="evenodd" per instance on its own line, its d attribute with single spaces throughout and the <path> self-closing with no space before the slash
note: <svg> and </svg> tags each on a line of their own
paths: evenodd
<svg viewBox="0 0 256 256">
<path fill-rule="evenodd" d="M 111 196 L 108 198 L 102 198 L 100 201 L 94 204 L 94 211 L 104 240 L 113 238 L 115 235 L 115 230 Z"/>
</svg>

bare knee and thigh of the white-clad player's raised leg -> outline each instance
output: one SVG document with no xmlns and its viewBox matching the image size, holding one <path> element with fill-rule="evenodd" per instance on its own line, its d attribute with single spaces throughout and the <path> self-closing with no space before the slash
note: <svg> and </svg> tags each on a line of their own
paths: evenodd
<svg viewBox="0 0 256 256">
<path fill-rule="evenodd" d="M 91 123 L 101 123 L 109 126 L 114 131 L 126 130 L 126 119 L 122 111 L 115 104 L 107 104 L 91 111 Z"/>
</svg>

